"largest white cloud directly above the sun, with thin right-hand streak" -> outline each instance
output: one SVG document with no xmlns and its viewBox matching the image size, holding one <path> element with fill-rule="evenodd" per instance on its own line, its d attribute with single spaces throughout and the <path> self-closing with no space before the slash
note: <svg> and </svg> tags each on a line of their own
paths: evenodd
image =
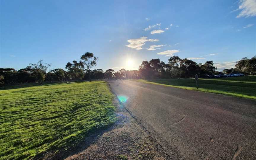
<svg viewBox="0 0 256 160">
<path fill-rule="evenodd" d="M 135 39 L 127 40 L 129 42 L 129 45 L 126 45 L 129 48 L 133 48 L 136 50 L 141 50 L 142 46 L 145 45 L 146 42 L 158 42 L 158 39 L 147 39 L 147 37 L 140 37 Z"/>
</svg>

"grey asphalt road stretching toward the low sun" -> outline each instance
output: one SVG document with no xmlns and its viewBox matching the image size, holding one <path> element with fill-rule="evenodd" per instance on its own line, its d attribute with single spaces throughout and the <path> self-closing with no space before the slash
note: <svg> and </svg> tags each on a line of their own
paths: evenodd
<svg viewBox="0 0 256 160">
<path fill-rule="evenodd" d="M 256 159 L 256 101 L 129 80 L 113 92 L 170 159 Z"/>
</svg>

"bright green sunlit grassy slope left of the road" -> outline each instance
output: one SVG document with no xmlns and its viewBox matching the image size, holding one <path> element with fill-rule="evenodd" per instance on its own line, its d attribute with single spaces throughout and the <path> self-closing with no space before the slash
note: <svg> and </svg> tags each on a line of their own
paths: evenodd
<svg viewBox="0 0 256 160">
<path fill-rule="evenodd" d="M 60 151 L 115 121 L 104 81 L 0 90 L 0 159 Z"/>
</svg>

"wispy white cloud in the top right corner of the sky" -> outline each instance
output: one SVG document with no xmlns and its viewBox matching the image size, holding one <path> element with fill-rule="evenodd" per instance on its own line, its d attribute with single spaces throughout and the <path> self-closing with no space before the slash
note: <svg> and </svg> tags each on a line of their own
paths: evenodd
<svg viewBox="0 0 256 160">
<path fill-rule="evenodd" d="M 236 18 L 256 16 L 256 1 L 240 0 L 239 8 L 236 10 L 233 10 L 232 12 L 235 12 L 237 10 L 241 10 L 241 12 L 236 16 Z"/>
</svg>

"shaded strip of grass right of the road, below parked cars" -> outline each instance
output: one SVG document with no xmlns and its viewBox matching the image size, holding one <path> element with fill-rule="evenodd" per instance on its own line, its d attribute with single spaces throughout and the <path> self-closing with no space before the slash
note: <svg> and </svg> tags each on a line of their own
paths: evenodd
<svg viewBox="0 0 256 160">
<path fill-rule="evenodd" d="M 202 92 L 227 94 L 237 97 L 256 99 L 256 76 L 199 79 L 198 89 L 196 89 L 195 79 L 162 79 L 138 81 L 182 89 L 198 90 Z"/>
</svg>

